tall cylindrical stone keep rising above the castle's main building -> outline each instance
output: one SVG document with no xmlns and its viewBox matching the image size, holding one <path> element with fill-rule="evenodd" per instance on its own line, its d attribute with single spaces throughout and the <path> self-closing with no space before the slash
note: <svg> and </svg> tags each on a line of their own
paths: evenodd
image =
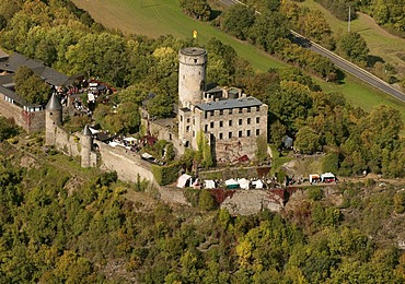
<svg viewBox="0 0 405 284">
<path fill-rule="evenodd" d="M 206 91 L 207 50 L 187 47 L 178 51 L 178 106 L 201 103 Z"/>
</svg>

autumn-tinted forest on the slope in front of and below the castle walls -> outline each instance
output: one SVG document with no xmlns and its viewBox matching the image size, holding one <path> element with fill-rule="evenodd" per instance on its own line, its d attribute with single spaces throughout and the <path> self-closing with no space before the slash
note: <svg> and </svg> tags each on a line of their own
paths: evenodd
<svg viewBox="0 0 405 284">
<path fill-rule="evenodd" d="M 404 185 L 348 181 L 333 196 L 312 187 L 280 214 L 232 216 L 208 191 L 194 208 L 164 204 L 147 199 L 155 192 L 148 182 L 124 184 L 116 173 L 44 152 L 40 135 L 7 138 L 0 283 L 405 281 L 396 246 Z M 143 198 L 130 198 L 134 191 Z"/>
</svg>

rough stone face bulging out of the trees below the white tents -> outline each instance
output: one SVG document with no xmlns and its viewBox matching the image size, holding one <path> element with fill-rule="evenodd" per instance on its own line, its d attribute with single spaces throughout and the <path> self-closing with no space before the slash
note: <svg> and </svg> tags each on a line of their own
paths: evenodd
<svg viewBox="0 0 405 284">
<path fill-rule="evenodd" d="M 279 212 L 282 208 L 282 198 L 268 190 L 238 190 L 221 204 L 232 215 L 252 215 L 263 209 Z"/>
</svg>

